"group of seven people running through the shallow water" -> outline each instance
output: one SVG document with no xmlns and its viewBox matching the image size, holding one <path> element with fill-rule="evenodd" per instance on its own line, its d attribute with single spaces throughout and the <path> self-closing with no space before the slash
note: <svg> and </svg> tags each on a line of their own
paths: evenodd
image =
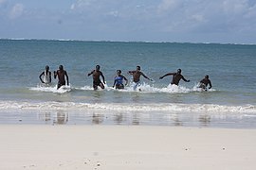
<svg viewBox="0 0 256 170">
<path fill-rule="evenodd" d="M 150 81 L 153 81 L 153 79 L 149 78 L 148 76 L 145 76 L 141 71 L 140 71 L 140 66 L 137 66 L 137 70 L 133 70 L 133 71 L 128 71 L 129 75 L 133 76 L 133 88 L 134 90 L 137 89 L 137 86 L 140 85 L 140 76 L 144 76 L 145 78 L 147 78 Z M 104 84 L 105 84 L 105 77 L 103 76 L 102 72 L 101 72 L 101 66 L 100 65 L 96 65 L 95 70 L 93 70 L 92 72 L 90 72 L 88 74 L 88 76 L 93 76 L 93 88 L 94 90 L 97 90 L 98 87 L 100 86 L 101 89 L 104 89 Z M 42 77 L 43 76 L 43 77 Z M 57 89 L 59 89 L 60 87 L 64 86 L 65 84 L 69 85 L 69 81 L 68 81 L 68 76 L 66 71 L 64 70 L 64 66 L 60 65 L 59 66 L 59 70 L 54 71 L 54 78 L 56 78 L 58 76 L 58 86 Z M 177 72 L 174 73 L 168 73 L 164 76 L 160 76 L 159 79 L 162 79 L 165 76 L 173 76 L 171 84 L 177 85 L 180 81 L 180 79 L 184 80 L 185 82 L 190 82 L 190 80 L 187 80 L 184 76 L 181 75 L 181 69 L 177 69 Z M 51 72 L 49 71 L 49 66 L 46 65 L 46 70 L 44 72 L 42 72 L 42 74 L 39 76 L 40 80 L 42 83 L 44 84 L 50 84 L 51 83 Z M 66 79 L 66 83 L 65 83 L 65 79 Z M 102 81 L 101 81 L 102 79 Z M 123 84 L 123 80 L 125 80 L 125 84 Z M 124 89 L 124 85 L 126 86 L 128 84 L 128 79 L 121 75 L 121 71 L 117 70 L 117 76 L 115 76 L 114 78 L 114 84 L 113 84 L 113 88 L 116 89 Z M 203 90 L 207 91 L 207 87 L 209 85 L 209 89 L 211 88 L 211 82 L 210 82 L 210 78 L 208 75 L 206 75 L 199 83 L 198 88 L 202 88 Z"/>
</svg>

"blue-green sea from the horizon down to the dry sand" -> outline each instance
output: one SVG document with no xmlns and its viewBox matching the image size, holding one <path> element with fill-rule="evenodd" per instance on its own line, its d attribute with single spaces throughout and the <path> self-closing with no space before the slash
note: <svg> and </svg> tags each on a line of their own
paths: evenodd
<svg viewBox="0 0 256 170">
<path fill-rule="evenodd" d="M 0 124 L 255 128 L 255 63 L 254 44 L 0 40 Z M 46 65 L 53 75 L 61 64 L 70 86 L 42 86 Z M 94 91 L 98 64 L 106 84 Z M 140 77 L 141 92 L 127 73 L 137 65 L 153 79 Z M 190 82 L 159 79 L 179 68 Z M 124 90 L 112 88 L 118 69 Z M 207 92 L 197 88 L 205 75 Z"/>
</svg>

